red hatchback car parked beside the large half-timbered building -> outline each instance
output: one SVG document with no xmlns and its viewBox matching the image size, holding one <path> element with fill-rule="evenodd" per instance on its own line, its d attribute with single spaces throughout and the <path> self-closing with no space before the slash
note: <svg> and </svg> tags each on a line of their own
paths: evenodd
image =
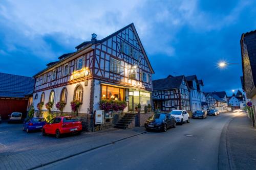
<svg viewBox="0 0 256 170">
<path fill-rule="evenodd" d="M 82 131 L 81 122 L 73 116 L 59 116 L 50 120 L 49 123 L 42 127 L 42 136 L 53 134 L 59 138 L 64 133 L 77 133 Z"/>
</svg>

